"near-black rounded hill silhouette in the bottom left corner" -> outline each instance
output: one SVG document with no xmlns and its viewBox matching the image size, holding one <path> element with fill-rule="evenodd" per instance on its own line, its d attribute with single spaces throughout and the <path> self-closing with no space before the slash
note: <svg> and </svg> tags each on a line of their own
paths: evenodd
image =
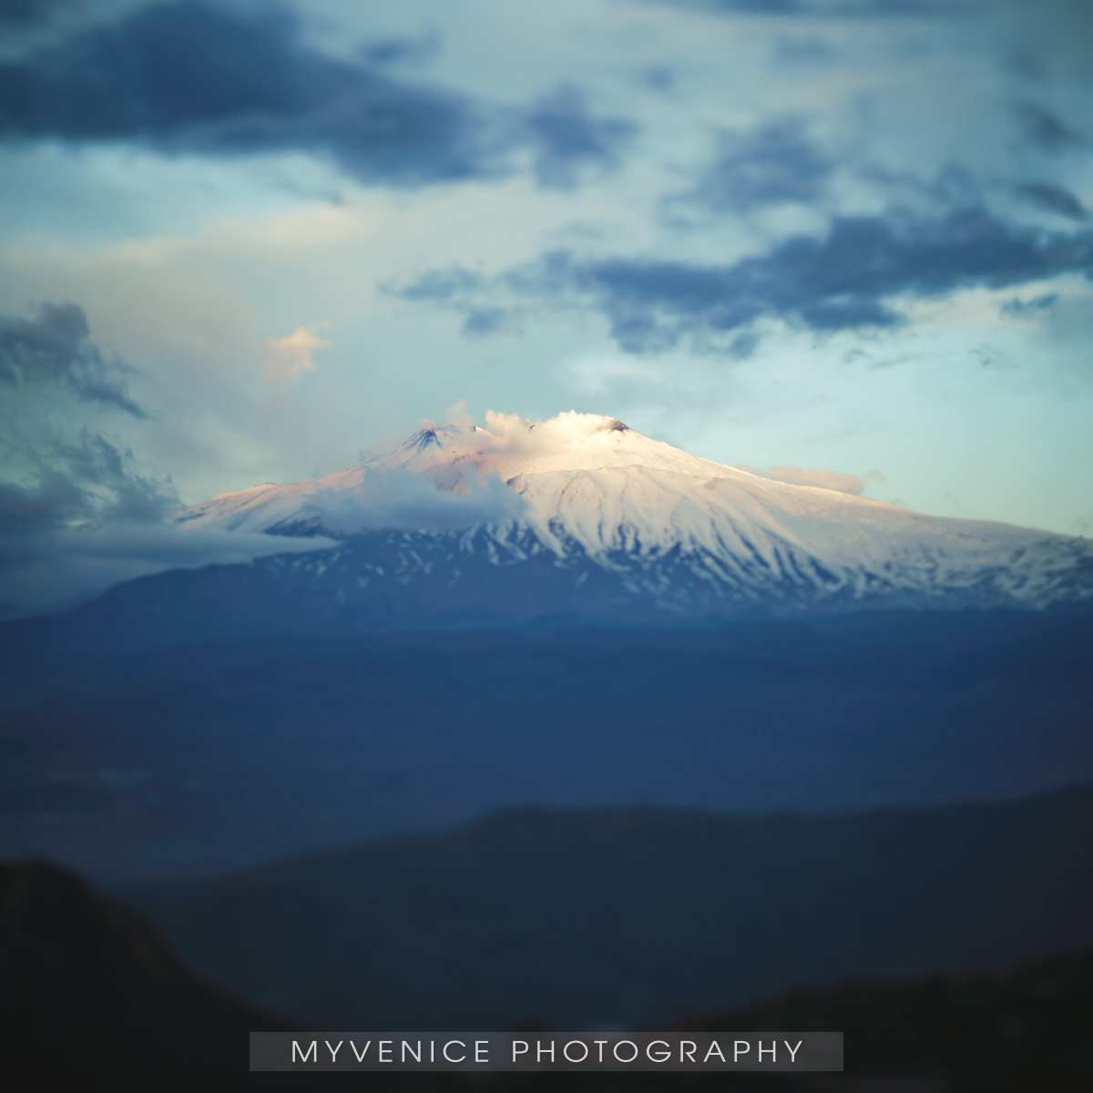
<svg viewBox="0 0 1093 1093">
<path fill-rule="evenodd" d="M 0 865 L 5 1089 L 192 1090 L 247 1069 L 247 1033 L 287 1027 L 197 978 L 146 919 L 42 861 Z"/>
</svg>

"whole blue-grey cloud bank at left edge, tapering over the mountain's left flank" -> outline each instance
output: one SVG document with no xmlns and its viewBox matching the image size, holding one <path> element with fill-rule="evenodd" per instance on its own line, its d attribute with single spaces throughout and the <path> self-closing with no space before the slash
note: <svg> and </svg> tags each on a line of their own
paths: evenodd
<svg viewBox="0 0 1093 1093">
<path fill-rule="evenodd" d="M 0 616 L 57 610 L 118 580 L 178 565 L 322 545 L 172 527 L 178 496 L 168 475 L 140 468 L 128 447 L 71 413 L 63 425 L 55 413 L 58 392 L 70 391 L 85 410 L 146 418 L 126 391 L 128 371 L 90 340 L 75 304 L 0 318 L 0 385 L 10 396 L 0 415 Z"/>
</svg>

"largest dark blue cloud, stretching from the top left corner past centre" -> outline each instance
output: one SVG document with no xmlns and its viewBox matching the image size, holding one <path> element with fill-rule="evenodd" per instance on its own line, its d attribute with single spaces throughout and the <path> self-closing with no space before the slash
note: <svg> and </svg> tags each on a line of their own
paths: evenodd
<svg viewBox="0 0 1093 1093">
<path fill-rule="evenodd" d="M 576 92 L 505 111 L 400 81 L 385 66 L 404 45 L 379 43 L 350 62 L 308 46 L 280 7 L 156 5 L 0 66 L 0 134 L 301 150 L 362 180 L 412 187 L 506 172 L 522 148 L 544 181 L 568 185 L 581 165 L 613 163 L 632 128 L 592 117 Z"/>
</svg>

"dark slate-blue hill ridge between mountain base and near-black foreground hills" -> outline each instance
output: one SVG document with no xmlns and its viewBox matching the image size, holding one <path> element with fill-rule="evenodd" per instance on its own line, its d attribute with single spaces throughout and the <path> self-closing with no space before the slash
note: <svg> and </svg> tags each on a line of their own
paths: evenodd
<svg viewBox="0 0 1093 1093">
<path fill-rule="evenodd" d="M 636 1026 L 1093 942 L 1093 787 L 825 819 L 520 811 L 128 893 L 316 1026 Z"/>
</svg>

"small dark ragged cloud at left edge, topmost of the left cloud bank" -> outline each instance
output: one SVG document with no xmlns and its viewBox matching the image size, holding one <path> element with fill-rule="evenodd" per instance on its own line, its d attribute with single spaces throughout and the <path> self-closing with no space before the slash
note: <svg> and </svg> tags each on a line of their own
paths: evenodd
<svg viewBox="0 0 1093 1093">
<path fill-rule="evenodd" d="M 144 418 L 126 390 L 125 368 L 91 340 L 75 304 L 43 304 L 31 318 L 0 316 L 0 384 L 19 390 L 54 385 L 85 402 Z"/>
</svg>

